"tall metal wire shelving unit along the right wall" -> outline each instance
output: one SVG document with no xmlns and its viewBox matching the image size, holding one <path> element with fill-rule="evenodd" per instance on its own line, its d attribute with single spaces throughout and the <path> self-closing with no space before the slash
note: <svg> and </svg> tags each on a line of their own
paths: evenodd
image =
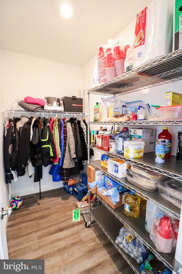
<svg viewBox="0 0 182 274">
<path fill-rule="evenodd" d="M 88 135 L 90 132 L 90 125 L 138 125 L 138 126 L 180 126 L 182 125 L 182 120 L 147 120 L 147 121 L 125 121 L 125 122 L 93 122 L 89 119 L 89 98 L 90 94 L 98 95 L 122 95 L 138 90 L 142 90 L 148 87 L 153 87 L 168 82 L 176 81 L 182 79 L 182 50 L 175 51 L 166 56 L 156 59 L 142 67 L 129 71 L 121 76 L 118 76 L 100 86 L 94 87 L 88 90 Z M 88 136 L 89 140 L 89 136 Z M 162 200 L 158 192 L 145 192 L 129 182 L 126 178 L 117 178 L 115 175 L 107 172 L 107 169 L 103 168 L 100 161 L 90 162 L 90 149 L 101 152 L 105 155 L 111 156 L 112 158 L 117 158 L 124 160 L 129 164 L 134 164 L 139 167 L 146 168 L 158 172 L 159 174 L 166 175 L 170 178 L 175 178 L 182 181 L 182 162 L 176 160 L 175 156 L 166 159 L 164 164 L 158 164 L 155 162 L 155 152 L 150 152 L 144 154 L 142 158 L 130 159 L 124 157 L 122 154 L 113 154 L 98 149 L 97 147 L 92 147 L 88 145 L 88 164 L 103 172 L 119 184 L 125 186 L 129 190 L 133 190 L 140 197 L 148 200 L 150 203 L 160 207 L 168 214 L 172 215 L 176 219 L 180 219 L 180 211 L 178 207 L 171 204 L 166 200 Z M 182 184 L 182 182 L 181 182 Z M 138 263 L 133 260 L 128 254 L 126 254 L 118 245 L 115 244 L 115 239 L 119 235 L 119 230 L 122 224 L 126 225 L 136 237 L 138 237 L 155 255 L 160 259 L 169 269 L 173 269 L 173 259 L 174 253 L 165 254 L 160 253 L 151 239 L 149 238 L 149 233 L 144 227 L 145 212 L 141 212 L 138 218 L 129 218 L 124 214 L 123 208 L 119 207 L 117 209 L 112 209 L 106 202 L 98 196 L 98 199 L 102 201 L 102 206 L 91 209 L 90 207 L 90 195 L 89 195 L 89 220 L 86 223 L 86 227 L 89 227 L 91 222 L 91 216 L 98 223 L 100 228 L 104 231 L 106 236 L 110 239 L 113 245 L 129 263 L 131 268 L 135 273 L 140 273 Z"/>
</svg>

